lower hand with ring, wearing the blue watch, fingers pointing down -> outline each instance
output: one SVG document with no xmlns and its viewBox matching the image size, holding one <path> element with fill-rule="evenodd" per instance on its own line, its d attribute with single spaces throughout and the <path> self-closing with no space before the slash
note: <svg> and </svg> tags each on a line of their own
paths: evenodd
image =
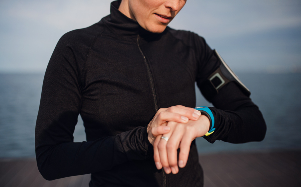
<svg viewBox="0 0 301 187">
<path fill-rule="evenodd" d="M 177 174 L 179 172 L 177 149 L 180 148 L 179 167 L 183 168 L 188 160 L 191 142 L 209 131 L 210 121 L 205 115 L 201 115 L 196 121 L 189 120 L 185 124 L 169 121 L 166 125 L 171 130 L 156 137 L 154 161 L 157 169 L 163 167 L 167 174 L 171 172 Z M 162 136 L 169 138 L 168 141 L 161 139 Z"/>
</svg>

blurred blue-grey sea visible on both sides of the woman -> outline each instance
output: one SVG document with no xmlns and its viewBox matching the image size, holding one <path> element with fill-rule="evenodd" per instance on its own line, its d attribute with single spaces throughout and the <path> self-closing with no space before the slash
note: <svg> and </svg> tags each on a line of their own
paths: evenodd
<svg viewBox="0 0 301 187">
<path fill-rule="evenodd" d="M 208 143 L 197 138 L 199 153 L 301 149 L 301 74 L 237 73 L 251 90 L 267 123 L 262 142 Z M 0 74 L 0 157 L 34 157 L 34 132 L 43 74 Z M 196 89 L 197 106 L 211 106 Z M 74 141 L 85 141 L 83 122 Z"/>
</svg>

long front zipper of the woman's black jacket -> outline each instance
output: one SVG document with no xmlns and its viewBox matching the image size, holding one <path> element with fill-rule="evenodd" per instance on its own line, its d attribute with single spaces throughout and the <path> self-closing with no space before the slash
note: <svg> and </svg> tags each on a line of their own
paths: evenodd
<svg viewBox="0 0 301 187">
<path fill-rule="evenodd" d="M 149 78 L 149 81 L 150 81 L 150 88 L 152 89 L 152 94 L 153 94 L 153 99 L 154 99 L 154 105 L 155 105 L 155 110 L 156 112 L 158 111 L 158 104 L 157 104 L 157 98 L 156 98 L 156 92 L 155 92 L 155 86 L 154 86 L 154 80 L 153 80 L 153 76 L 152 76 L 152 72 L 150 71 L 150 67 L 149 67 L 149 64 L 146 60 L 146 57 L 143 53 L 143 51 L 141 50 L 140 48 L 140 44 L 139 44 L 139 38 L 140 38 L 140 35 L 138 35 L 137 37 L 137 44 L 138 44 L 138 48 L 143 56 L 143 59 L 144 59 L 144 63 L 146 65 L 146 68 L 147 68 L 147 73 L 148 73 L 148 78 Z M 163 186 L 166 187 L 166 173 L 164 171 L 164 169 L 162 168 L 162 174 L 163 174 Z"/>
</svg>

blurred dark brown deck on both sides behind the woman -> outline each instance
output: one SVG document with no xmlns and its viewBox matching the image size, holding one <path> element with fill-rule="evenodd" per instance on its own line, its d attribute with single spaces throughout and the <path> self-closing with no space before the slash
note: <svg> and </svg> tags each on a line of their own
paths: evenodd
<svg viewBox="0 0 301 187">
<path fill-rule="evenodd" d="M 205 187 L 301 186 L 301 151 L 200 155 Z M 34 159 L 1 159 L 1 187 L 87 187 L 90 175 L 46 181 Z"/>
</svg>

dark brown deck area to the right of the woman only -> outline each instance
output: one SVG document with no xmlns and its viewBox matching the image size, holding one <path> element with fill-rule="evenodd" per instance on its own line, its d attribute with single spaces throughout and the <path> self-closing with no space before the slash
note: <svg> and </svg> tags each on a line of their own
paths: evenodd
<svg viewBox="0 0 301 187">
<path fill-rule="evenodd" d="M 206 187 L 212 182 L 219 186 L 301 186 L 299 157 L 301 151 L 272 151 L 207 154 L 199 160 Z"/>
</svg>

